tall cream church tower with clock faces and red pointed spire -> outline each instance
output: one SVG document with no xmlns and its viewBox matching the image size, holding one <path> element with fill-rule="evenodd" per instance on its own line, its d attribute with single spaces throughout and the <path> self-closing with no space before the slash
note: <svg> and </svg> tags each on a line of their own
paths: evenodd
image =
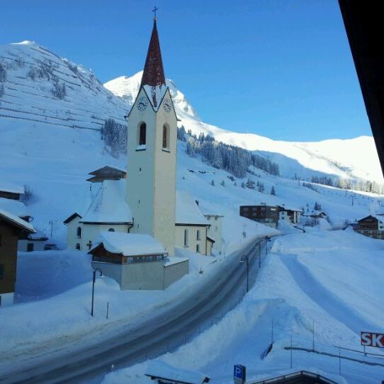
<svg viewBox="0 0 384 384">
<path fill-rule="evenodd" d="M 142 84 L 128 115 L 127 196 L 134 226 L 174 255 L 177 117 L 166 86 L 156 18 Z"/>
</svg>

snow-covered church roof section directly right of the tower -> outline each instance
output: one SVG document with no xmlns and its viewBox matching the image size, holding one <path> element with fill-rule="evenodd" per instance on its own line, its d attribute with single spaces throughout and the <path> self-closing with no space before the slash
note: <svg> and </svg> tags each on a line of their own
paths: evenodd
<svg viewBox="0 0 384 384">
<path fill-rule="evenodd" d="M 185 191 L 176 191 L 176 224 L 209 225 L 195 199 Z"/>
</svg>

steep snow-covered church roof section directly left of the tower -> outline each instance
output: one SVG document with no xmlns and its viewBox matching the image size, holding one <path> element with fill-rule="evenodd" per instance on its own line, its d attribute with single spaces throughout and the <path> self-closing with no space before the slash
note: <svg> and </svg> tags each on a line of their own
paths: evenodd
<svg viewBox="0 0 384 384">
<path fill-rule="evenodd" d="M 105 180 L 80 223 L 133 223 L 125 180 Z"/>
</svg>

